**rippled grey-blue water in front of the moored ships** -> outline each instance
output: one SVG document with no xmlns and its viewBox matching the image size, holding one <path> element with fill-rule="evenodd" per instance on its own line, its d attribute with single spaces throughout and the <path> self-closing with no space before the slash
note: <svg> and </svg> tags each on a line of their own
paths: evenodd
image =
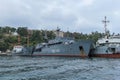
<svg viewBox="0 0 120 80">
<path fill-rule="evenodd" d="M 0 80 L 120 80 L 120 59 L 1 56 Z"/>
</svg>

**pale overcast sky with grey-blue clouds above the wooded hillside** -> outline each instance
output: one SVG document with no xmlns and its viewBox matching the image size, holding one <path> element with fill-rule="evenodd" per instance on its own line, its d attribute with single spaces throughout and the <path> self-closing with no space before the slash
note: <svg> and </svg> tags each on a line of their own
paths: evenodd
<svg viewBox="0 0 120 80">
<path fill-rule="evenodd" d="M 120 32 L 120 0 L 0 0 L 0 26 L 90 33 Z"/>
</svg>

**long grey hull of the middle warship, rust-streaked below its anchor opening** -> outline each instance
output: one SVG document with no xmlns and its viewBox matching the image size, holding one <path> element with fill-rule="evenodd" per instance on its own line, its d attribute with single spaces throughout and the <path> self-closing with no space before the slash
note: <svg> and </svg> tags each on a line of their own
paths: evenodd
<svg viewBox="0 0 120 80">
<path fill-rule="evenodd" d="M 74 43 L 59 43 L 45 45 L 35 49 L 32 56 L 66 56 L 66 57 L 89 57 L 93 53 L 94 45 L 90 40 L 81 40 Z"/>
</svg>

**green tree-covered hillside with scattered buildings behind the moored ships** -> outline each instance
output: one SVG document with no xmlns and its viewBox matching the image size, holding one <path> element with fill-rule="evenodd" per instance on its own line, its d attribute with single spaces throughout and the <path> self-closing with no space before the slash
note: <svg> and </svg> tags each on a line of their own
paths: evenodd
<svg viewBox="0 0 120 80">
<path fill-rule="evenodd" d="M 47 39 L 55 38 L 55 30 L 29 30 L 27 27 L 0 27 L 0 51 L 12 50 L 15 45 L 33 46 L 37 43 L 45 42 Z M 104 33 L 91 32 L 89 34 L 78 32 L 63 32 L 64 37 L 73 37 L 79 39 L 91 39 L 96 41 L 104 36 Z"/>
</svg>

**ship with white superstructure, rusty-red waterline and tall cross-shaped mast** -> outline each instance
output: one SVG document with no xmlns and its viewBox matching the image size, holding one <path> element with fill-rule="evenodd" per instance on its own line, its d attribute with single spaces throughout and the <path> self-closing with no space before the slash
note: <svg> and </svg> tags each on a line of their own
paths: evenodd
<svg viewBox="0 0 120 80">
<path fill-rule="evenodd" d="M 106 16 L 103 22 L 105 23 L 105 36 L 96 42 L 93 57 L 120 58 L 120 35 L 110 35 L 106 28 L 106 23 L 109 22 Z"/>
</svg>

